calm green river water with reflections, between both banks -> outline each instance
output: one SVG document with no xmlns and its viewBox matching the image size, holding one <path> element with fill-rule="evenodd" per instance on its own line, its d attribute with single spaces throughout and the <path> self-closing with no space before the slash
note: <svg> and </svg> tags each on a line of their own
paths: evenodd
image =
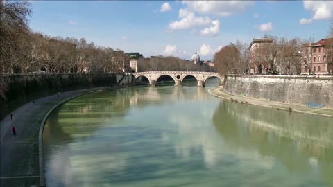
<svg viewBox="0 0 333 187">
<path fill-rule="evenodd" d="M 46 186 L 333 186 L 332 118 L 221 100 L 215 83 L 61 105 L 44 128 Z"/>
</svg>

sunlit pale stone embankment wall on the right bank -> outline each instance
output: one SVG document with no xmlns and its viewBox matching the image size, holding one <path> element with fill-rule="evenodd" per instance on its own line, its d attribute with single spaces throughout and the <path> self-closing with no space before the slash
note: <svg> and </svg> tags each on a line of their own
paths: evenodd
<svg viewBox="0 0 333 187">
<path fill-rule="evenodd" d="M 333 109 L 333 76 L 228 75 L 223 90 L 250 98 Z"/>
</svg>

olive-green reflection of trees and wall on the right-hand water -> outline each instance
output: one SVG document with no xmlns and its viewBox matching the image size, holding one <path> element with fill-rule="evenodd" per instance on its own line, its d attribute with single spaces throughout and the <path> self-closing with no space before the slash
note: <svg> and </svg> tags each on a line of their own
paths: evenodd
<svg viewBox="0 0 333 187">
<path fill-rule="evenodd" d="M 333 166 L 332 119 L 223 101 L 214 112 L 217 132 L 230 150 L 257 152 L 291 173 L 317 168 L 329 186 Z M 276 164 L 276 163 L 275 163 Z"/>
</svg>

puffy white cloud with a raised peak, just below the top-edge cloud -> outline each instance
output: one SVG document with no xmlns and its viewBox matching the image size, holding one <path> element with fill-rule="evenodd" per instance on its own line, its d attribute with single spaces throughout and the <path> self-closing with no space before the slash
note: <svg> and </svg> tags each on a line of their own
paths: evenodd
<svg viewBox="0 0 333 187">
<path fill-rule="evenodd" d="M 169 24 L 170 30 L 184 30 L 198 26 L 207 26 L 211 23 L 210 17 L 196 17 L 194 12 L 185 9 L 179 10 L 180 21 L 173 21 Z"/>
</svg>

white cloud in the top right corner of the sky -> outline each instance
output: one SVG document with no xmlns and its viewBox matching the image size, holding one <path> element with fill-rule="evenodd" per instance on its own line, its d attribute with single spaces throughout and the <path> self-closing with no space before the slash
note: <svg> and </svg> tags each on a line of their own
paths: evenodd
<svg viewBox="0 0 333 187">
<path fill-rule="evenodd" d="M 310 19 L 300 19 L 300 24 L 310 24 L 314 20 L 332 19 L 333 17 L 333 1 L 303 1 L 305 10 L 311 12 Z"/>
</svg>

